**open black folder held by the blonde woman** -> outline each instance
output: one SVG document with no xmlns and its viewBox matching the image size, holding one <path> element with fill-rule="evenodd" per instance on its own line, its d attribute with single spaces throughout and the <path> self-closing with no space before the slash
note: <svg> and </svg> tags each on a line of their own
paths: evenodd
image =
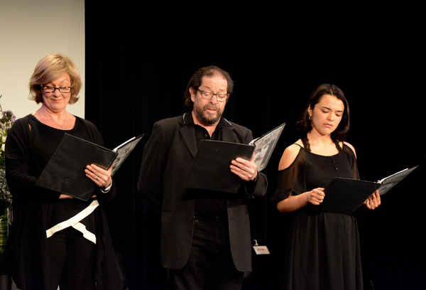
<svg viewBox="0 0 426 290">
<path fill-rule="evenodd" d="M 73 198 L 89 200 L 97 186 L 84 173 L 86 166 L 94 163 L 108 169 L 116 158 L 120 158 L 120 166 L 130 154 L 129 148 L 133 149 L 141 138 L 142 136 L 138 136 L 129 140 L 130 142 L 126 141 L 113 151 L 65 133 L 35 185 Z M 127 150 L 120 152 L 121 148 Z M 114 163 L 114 167 L 115 165 Z M 114 169 L 116 171 L 118 167 Z"/>
</svg>

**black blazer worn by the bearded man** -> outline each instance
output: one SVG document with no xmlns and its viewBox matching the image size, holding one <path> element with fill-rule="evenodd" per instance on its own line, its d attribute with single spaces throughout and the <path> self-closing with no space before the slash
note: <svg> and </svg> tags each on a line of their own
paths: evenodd
<svg viewBox="0 0 426 290">
<path fill-rule="evenodd" d="M 190 113 L 187 113 L 190 114 Z M 161 213 L 161 259 L 167 269 L 181 269 L 187 263 L 192 244 L 195 200 L 184 199 L 185 183 L 190 174 L 192 161 L 197 154 L 193 124 L 185 124 L 185 114 L 163 119 L 153 126 L 148 140 L 138 181 L 138 193 L 146 204 Z M 228 122 L 222 128 L 222 140 L 249 144 L 251 131 Z M 229 220 L 231 254 L 236 269 L 251 271 L 251 236 L 247 198 L 263 196 L 268 181 L 259 173 L 256 189 L 246 193 L 241 186 L 237 195 L 226 200 Z"/>
</svg>

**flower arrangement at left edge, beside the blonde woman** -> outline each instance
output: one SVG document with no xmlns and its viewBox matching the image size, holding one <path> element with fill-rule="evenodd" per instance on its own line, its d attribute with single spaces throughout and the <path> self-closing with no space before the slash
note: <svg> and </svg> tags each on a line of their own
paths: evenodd
<svg viewBox="0 0 426 290">
<path fill-rule="evenodd" d="M 1 95 L 0 95 L 1 97 Z M 7 134 L 15 122 L 16 117 L 11 111 L 3 111 L 0 104 L 0 205 L 9 206 L 12 202 L 12 196 L 6 183 L 6 172 L 4 166 L 4 144 Z"/>
</svg>

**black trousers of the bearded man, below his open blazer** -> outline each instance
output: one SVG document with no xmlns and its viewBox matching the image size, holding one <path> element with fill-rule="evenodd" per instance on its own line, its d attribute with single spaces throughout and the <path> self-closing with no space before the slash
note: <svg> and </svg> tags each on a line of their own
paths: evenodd
<svg viewBox="0 0 426 290">
<path fill-rule="evenodd" d="M 196 217 L 188 262 L 168 275 L 168 290 L 241 289 L 244 272 L 232 260 L 227 218 Z"/>
</svg>

